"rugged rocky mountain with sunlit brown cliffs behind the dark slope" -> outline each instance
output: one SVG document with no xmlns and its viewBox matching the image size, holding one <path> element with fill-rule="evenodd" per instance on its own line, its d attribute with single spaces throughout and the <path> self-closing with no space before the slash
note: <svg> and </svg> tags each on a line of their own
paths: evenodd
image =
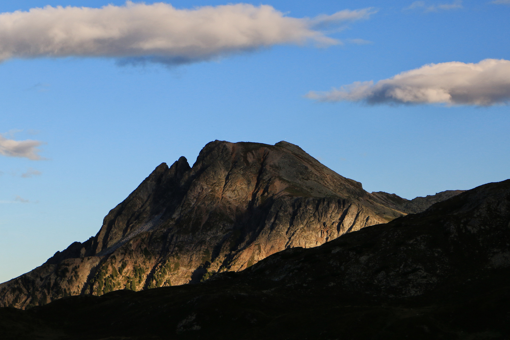
<svg viewBox="0 0 510 340">
<path fill-rule="evenodd" d="M 0 306 L 197 283 L 386 223 L 406 214 L 401 206 L 296 145 L 214 141 L 193 167 L 184 157 L 159 165 L 95 237 L 0 284 Z"/>
</svg>

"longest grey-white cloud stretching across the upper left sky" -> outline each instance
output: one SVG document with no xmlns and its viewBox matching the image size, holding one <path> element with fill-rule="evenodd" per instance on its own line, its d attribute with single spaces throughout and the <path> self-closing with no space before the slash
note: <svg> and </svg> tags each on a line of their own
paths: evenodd
<svg viewBox="0 0 510 340">
<path fill-rule="evenodd" d="M 113 57 L 183 64 L 276 44 L 339 44 L 319 29 L 368 18 L 372 9 L 316 18 L 287 17 L 271 6 L 234 4 L 176 9 L 169 4 L 33 8 L 0 14 L 0 61 Z"/>
</svg>

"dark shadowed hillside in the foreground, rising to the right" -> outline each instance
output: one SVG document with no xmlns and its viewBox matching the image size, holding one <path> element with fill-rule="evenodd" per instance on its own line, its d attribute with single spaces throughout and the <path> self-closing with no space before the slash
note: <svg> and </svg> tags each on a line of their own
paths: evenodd
<svg viewBox="0 0 510 340">
<path fill-rule="evenodd" d="M 0 308 L 11 339 L 508 339 L 510 180 L 199 284 Z"/>
</svg>

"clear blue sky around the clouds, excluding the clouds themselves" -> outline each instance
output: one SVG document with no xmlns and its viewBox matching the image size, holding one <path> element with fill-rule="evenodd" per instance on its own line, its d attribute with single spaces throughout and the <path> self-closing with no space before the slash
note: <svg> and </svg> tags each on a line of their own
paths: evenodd
<svg viewBox="0 0 510 340">
<path fill-rule="evenodd" d="M 108 4 L 124 2 L 4 0 L 0 12 Z M 193 10 L 227 3 L 171 4 Z M 504 92 L 505 79 L 497 83 L 488 75 L 467 90 L 474 99 L 462 103 L 401 98 L 367 103 L 380 94 L 377 81 L 426 64 L 509 60 L 510 4 L 262 4 L 285 17 L 310 18 L 299 22 L 313 23 L 319 15 L 345 9 L 368 9 L 371 14 L 326 28 L 327 20 L 315 26 L 307 23 L 307 32 L 337 39 L 335 44 L 284 41 L 212 59 L 193 56 L 184 65 L 121 66 L 119 58 L 129 55 L 71 53 L 55 58 L 37 54 L 34 48 L 24 55 L 18 49 L 4 58 L 0 133 L 4 140 L 44 144 L 40 152 L 34 151 L 39 160 L 26 154 L 0 155 L 0 281 L 41 265 L 73 241 L 93 236 L 108 211 L 157 165 L 171 164 L 181 155 L 192 164 L 203 145 L 215 139 L 269 144 L 286 140 L 361 181 L 368 191 L 409 199 L 510 177 L 508 93 L 481 105 L 472 94 L 479 90 L 478 83 L 495 82 L 482 90 Z M 2 30 L 0 25 L 0 55 L 7 48 L 2 47 L 2 39 L 7 39 Z M 35 36 L 31 44 L 40 48 L 40 39 Z M 358 97 L 341 89 L 364 81 L 375 85 Z M 401 86 L 394 83 L 379 85 Z M 332 88 L 350 99 L 327 99 Z M 310 91 L 321 93 L 315 97 L 319 100 L 307 97 Z"/>
</svg>

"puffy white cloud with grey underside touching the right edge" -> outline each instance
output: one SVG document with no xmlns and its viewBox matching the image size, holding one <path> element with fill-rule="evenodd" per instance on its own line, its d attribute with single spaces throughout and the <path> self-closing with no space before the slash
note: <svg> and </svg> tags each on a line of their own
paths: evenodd
<svg viewBox="0 0 510 340">
<path fill-rule="evenodd" d="M 491 106 L 510 101 L 510 61 L 485 59 L 477 64 L 447 62 L 424 65 L 389 79 L 355 82 L 328 92 L 311 91 L 319 101 L 445 103 Z"/>
</svg>

